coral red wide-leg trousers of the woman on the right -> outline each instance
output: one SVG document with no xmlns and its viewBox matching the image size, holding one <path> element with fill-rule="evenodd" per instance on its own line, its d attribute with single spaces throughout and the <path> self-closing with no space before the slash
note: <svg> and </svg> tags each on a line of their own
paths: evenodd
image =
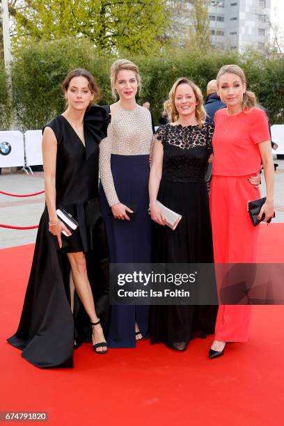
<svg viewBox="0 0 284 426">
<path fill-rule="evenodd" d="M 260 198 L 260 191 L 248 182 L 249 176 L 212 177 L 210 213 L 215 263 L 256 261 L 259 227 L 251 223 L 247 202 Z M 251 306 L 220 305 L 216 340 L 246 342 L 250 317 Z"/>
</svg>

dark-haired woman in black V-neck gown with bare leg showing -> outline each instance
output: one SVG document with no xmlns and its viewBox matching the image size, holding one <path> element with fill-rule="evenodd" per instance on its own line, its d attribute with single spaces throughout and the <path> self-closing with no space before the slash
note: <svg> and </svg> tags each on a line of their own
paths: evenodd
<svg viewBox="0 0 284 426">
<path fill-rule="evenodd" d="M 98 200 L 98 161 L 108 113 L 91 106 L 100 89 L 86 70 L 70 72 L 63 92 L 68 108 L 43 131 L 46 207 L 19 328 L 8 339 L 41 368 L 72 367 L 74 342 L 90 338 L 95 352 L 107 352 L 109 255 Z M 58 219 L 58 207 L 79 223 L 72 235 Z"/>
</svg>

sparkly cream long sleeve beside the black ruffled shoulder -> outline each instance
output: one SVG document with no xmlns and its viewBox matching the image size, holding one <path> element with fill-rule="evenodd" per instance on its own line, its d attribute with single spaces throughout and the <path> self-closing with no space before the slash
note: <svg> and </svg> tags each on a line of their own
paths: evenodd
<svg viewBox="0 0 284 426">
<path fill-rule="evenodd" d="M 102 186 L 104 187 L 104 193 L 107 196 L 107 201 L 111 207 L 114 204 L 118 204 L 118 196 L 116 194 L 116 188 L 114 187 L 113 176 L 111 174 L 111 147 L 112 147 L 112 126 L 109 125 L 107 138 L 103 139 L 100 143 L 100 178 Z"/>
</svg>

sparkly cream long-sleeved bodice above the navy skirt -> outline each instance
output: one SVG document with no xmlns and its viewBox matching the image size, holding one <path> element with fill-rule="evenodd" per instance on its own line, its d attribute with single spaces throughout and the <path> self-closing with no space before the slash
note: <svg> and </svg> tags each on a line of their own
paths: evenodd
<svg viewBox="0 0 284 426">
<path fill-rule="evenodd" d="M 118 109 L 109 125 L 107 138 L 100 143 L 100 178 L 110 206 L 119 203 L 111 174 L 111 154 L 149 155 L 152 136 L 148 109 L 139 105 L 134 111 Z"/>
</svg>

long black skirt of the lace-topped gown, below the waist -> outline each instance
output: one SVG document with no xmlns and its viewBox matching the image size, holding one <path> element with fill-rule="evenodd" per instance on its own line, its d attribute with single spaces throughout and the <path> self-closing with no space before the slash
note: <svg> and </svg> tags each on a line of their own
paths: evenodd
<svg viewBox="0 0 284 426">
<path fill-rule="evenodd" d="M 212 263 L 212 229 L 205 182 L 171 182 L 161 180 L 158 200 L 182 214 L 173 231 L 153 226 L 152 253 L 157 263 Z M 186 345 L 195 337 L 214 333 L 217 306 L 152 306 L 150 342 L 175 347 Z"/>
</svg>

